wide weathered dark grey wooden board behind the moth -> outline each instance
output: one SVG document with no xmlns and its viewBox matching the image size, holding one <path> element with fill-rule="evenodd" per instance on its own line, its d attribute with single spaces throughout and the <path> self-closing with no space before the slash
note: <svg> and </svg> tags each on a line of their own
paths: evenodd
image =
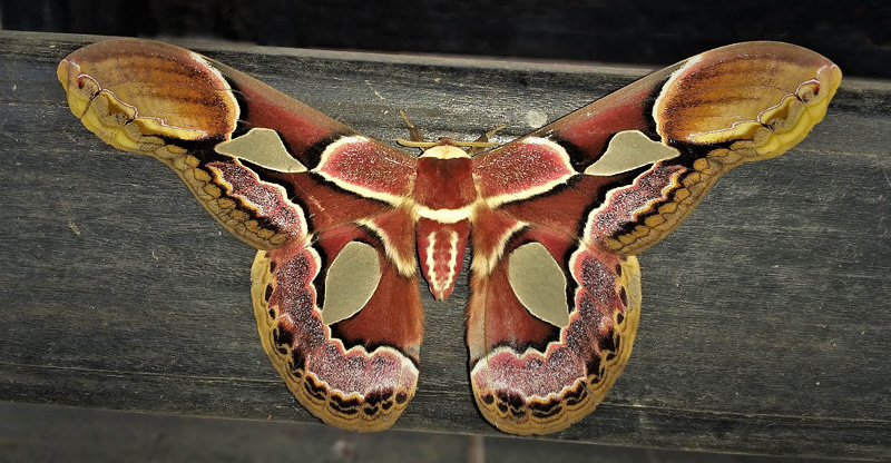
<svg viewBox="0 0 891 463">
<path fill-rule="evenodd" d="M 254 252 L 159 162 L 71 116 L 56 65 L 95 40 L 0 33 L 0 401 L 315 422 L 263 353 Z M 502 141 L 644 72 L 180 42 L 380 138 Z M 891 460 L 891 85 L 848 78 L 793 151 L 744 166 L 640 256 L 635 352 L 551 439 Z M 467 377 L 467 287 L 427 316 L 396 424 L 498 435 Z"/>
</svg>

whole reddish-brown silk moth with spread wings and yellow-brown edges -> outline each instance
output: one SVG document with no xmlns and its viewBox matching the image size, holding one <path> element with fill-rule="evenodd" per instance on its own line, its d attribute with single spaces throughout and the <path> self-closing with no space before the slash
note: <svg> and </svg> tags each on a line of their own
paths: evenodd
<svg viewBox="0 0 891 463">
<path fill-rule="evenodd" d="M 733 45 L 507 145 L 440 139 L 420 156 L 169 45 L 95 43 L 58 77 L 89 130 L 173 168 L 258 249 L 260 336 L 306 410 L 350 430 L 395 422 L 419 374 L 419 273 L 449 297 L 470 245 L 477 404 L 502 431 L 545 434 L 588 415 L 626 364 L 635 256 L 722 174 L 804 138 L 841 71 L 791 45 Z"/>
</svg>

